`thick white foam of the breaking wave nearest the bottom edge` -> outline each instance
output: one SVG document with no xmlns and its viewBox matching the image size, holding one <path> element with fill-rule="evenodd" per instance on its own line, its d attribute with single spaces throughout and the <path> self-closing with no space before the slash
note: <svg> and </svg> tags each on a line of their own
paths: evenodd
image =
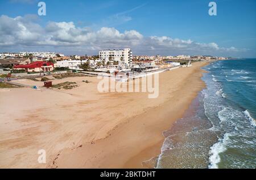
<svg viewBox="0 0 256 180">
<path fill-rule="evenodd" d="M 226 145 L 229 141 L 229 136 L 232 135 L 231 133 L 225 133 L 223 139 L 219 139 L 218 143 L 214 144 L 212 147 L 210 147 L 210 157 L 209 157 L 209 169 L 217 169 L 218 163 L 221 161 L 220 153 L 223 153 L 226 151 Z"/>
</svg>

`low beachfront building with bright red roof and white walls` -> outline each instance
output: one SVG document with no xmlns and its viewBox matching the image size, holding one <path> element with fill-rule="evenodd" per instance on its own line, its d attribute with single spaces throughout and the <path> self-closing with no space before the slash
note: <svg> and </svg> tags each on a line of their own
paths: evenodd
<svg viewBox="0 0 256 180">
<path fill-rule="evenodd" d="M 26 72 L 51 72 L 54 69 L 52 62 L 35 61 L 31 64 L 16 65 L 13 67 L 16 70 L 24 69 Z"/>
</svg>

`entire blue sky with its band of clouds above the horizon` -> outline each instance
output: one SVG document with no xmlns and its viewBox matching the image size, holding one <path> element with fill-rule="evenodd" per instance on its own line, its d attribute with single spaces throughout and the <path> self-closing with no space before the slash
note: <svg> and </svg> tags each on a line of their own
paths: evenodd
<svg viewBox="0 0 256 180">
<path fill-rule="evenodd" d="M 0 1 L 0 52 L 96 55 L 132 48 L 135 55 L 256 57 L 256 1 Z"/>
</svg>

